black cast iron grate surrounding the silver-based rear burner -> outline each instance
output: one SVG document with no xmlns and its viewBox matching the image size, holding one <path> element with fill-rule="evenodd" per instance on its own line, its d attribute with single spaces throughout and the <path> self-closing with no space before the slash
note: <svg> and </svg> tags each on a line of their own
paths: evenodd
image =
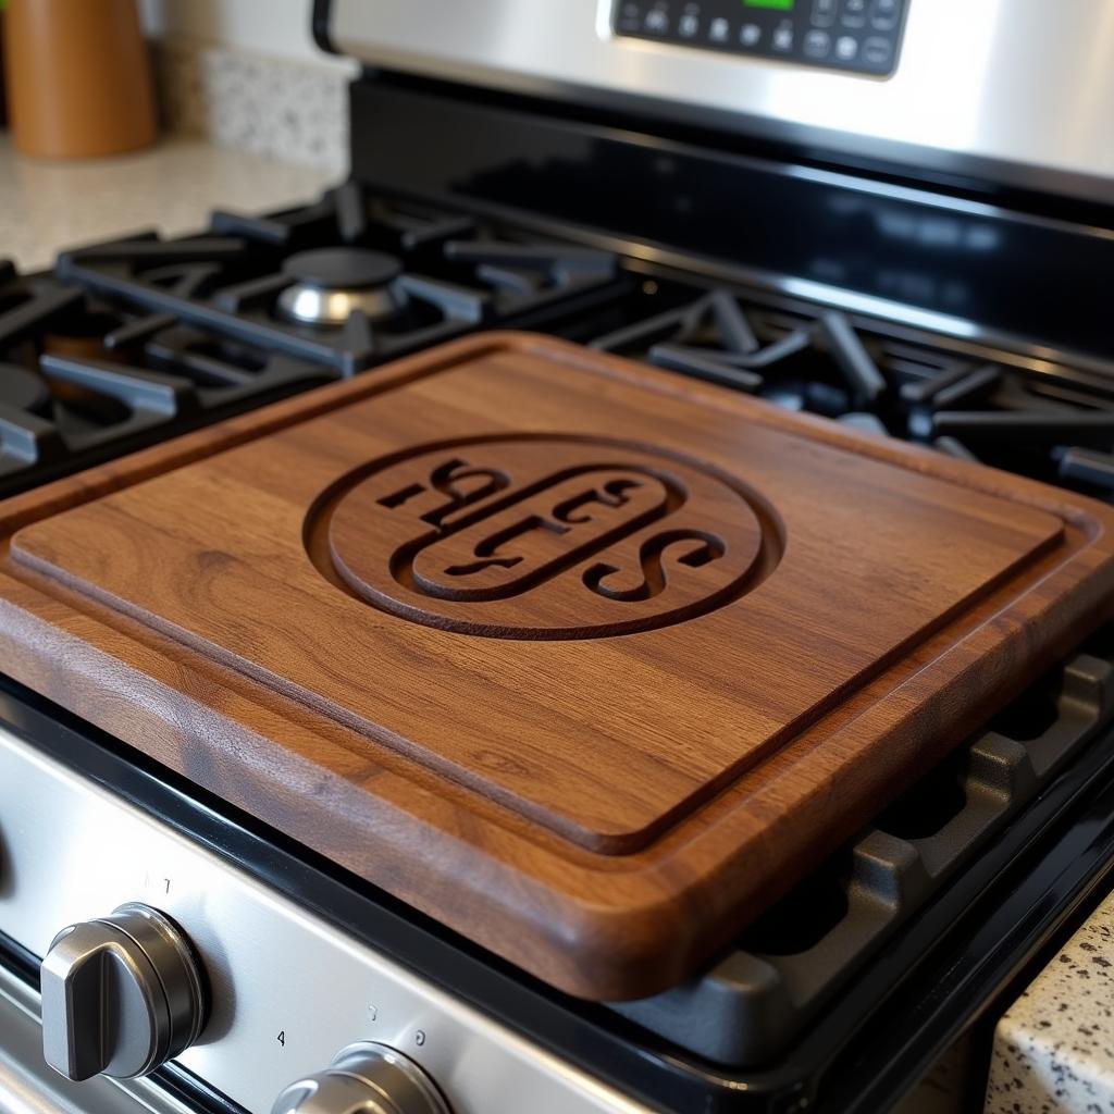
<svg viewBox="0 0 1114 1114">
<path fill-rule="evenodd" d="M 216 213 L 203 236 L 68 252 L 57 270 L 114 301 L 342 374 L 478 328 L 535 328 L 622 283 L 609 252 L 372 197 L 351 182 L 268 217 Z"/>
</svg>

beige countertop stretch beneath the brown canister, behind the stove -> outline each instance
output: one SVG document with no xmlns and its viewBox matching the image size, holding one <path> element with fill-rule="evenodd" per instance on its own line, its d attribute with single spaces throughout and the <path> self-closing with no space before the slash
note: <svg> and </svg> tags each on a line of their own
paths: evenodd
<svg viewBox="0 0 1114 1114">
<path fill-rule="evenodd" d="M 309 201 L 341 177 L 197 139 L 164 139 L 114 158 L 25 158 L 0 131 L 0 258 L 25 270 L 57 252 L 124 233 L 180 234 L 212 208 L 263 212 Z"/>
</svg>

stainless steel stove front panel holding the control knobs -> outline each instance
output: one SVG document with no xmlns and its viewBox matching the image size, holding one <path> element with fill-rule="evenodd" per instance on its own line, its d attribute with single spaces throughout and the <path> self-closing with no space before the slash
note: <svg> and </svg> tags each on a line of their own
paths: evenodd
<svg viewBox="0 0 1114 1114">
<path fill-rule="evenodd" d="M 3 724 L 0 934 L 45 957 L 42 1055 L 90 1102 L 176 1058 L 246 1114 L 651 1114 Z"/>
</svg>

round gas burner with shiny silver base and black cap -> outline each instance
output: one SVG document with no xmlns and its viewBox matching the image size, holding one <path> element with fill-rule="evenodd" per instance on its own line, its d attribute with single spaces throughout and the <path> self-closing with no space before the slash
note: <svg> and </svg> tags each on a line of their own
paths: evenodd
<svg viewBox="0 0 1114 1114">
<path fill-rule="evenodd" d="M 343 325 L 354 312 L 369 321 L 394 316 L 410 301 L 397 282 L 402 263 L 384 252 L 321 247 L 283 261 L 294 282 L 278 295 L 278 312 L 309 325 Z"/>
</svg>

